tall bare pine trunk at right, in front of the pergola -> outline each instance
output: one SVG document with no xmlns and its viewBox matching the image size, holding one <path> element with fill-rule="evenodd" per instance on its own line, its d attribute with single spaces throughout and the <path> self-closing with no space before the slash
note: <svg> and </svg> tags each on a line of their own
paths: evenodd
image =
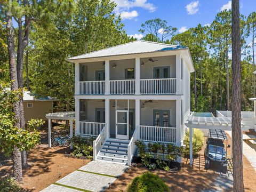
<svg viewBox="0 0 256 192">
<path fill-rule="evenodd" d="M 235 192 L 243 192 L 239 0 L 232 0 L 232 143 L 234 178 L 233 190 Z"/>
</svg>

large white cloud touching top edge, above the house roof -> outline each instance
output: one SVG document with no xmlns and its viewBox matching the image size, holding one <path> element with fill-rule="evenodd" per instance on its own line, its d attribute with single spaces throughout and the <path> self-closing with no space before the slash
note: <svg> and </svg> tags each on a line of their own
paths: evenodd
<svg viewBox="0 0 256 192">
<path fill-rule="evenodd" d="M 156 6 L 153 3 L 147 3 L 147 0 L 113 0 L 117 6 L 115 11 L 129 11 L 133 7 L 141 7 L 143 9 L 148 10 L 149 12 L 154 12 L 156 10 Z"/>
</svg>

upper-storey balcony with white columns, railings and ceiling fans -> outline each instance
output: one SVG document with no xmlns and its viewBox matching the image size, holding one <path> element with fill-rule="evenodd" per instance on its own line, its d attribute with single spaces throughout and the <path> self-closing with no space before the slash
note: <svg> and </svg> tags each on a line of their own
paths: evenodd
<svg viewBox="0 0 256 192">
<path fill-rule="evenodd" d="M 183 61 L 178 59 L 178 70 L 176 55 L 79 63 L 76 94 L 182 94 Z"/>
</svg>

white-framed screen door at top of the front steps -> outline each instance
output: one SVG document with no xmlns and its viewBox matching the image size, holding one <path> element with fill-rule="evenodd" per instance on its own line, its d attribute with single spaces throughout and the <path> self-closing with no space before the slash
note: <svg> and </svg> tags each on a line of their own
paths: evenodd
<svg viewBox="0 0 256 192">
<path fill-rule="evenodd" d="M 129 139 L 128 110 L 116 110 L 116 139 Z"/>
</svg>

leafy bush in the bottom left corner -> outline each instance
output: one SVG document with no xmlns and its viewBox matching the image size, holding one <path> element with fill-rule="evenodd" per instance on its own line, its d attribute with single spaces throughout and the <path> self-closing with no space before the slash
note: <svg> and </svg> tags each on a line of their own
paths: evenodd
<svg viewBox="0 0 256 192">
<path fill-rule="evenodd" d="M 18 186 L 14 178 L 3 177 L 3 178 L 0 178 L 0 191 L 1 192 L 25 192 L 29 190 Z"/>
</svg>

